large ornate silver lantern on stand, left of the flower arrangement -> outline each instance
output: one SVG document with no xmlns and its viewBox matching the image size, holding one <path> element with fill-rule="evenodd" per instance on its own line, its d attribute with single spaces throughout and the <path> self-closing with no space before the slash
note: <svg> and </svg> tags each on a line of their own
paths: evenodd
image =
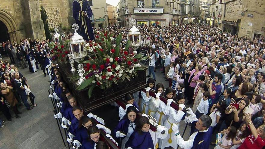
<svg viewBox="0 0 265 149">
<path fill-rule="evenodd" d="M 74 61 L 76 61 L 78 64 L 77 72 L 79 73 L 79 80 L 76 82 L 77 85 L 80 85 L 86 78 L 85 75 L 85 69 L 83 67 L 82 61 L 84 61 L 84 58 L 86 57 L 86 41 L 83 39 L 82 36 L 80 36 L 76 31 L 78 30 L 79 26 L 74 23 L 72 25 L 72 29 L 75 31 L 73 36 L 70 39 L 69 42 L 69 50 L 70 54 L 72 55 L 72 58 Z"/>
</svg>

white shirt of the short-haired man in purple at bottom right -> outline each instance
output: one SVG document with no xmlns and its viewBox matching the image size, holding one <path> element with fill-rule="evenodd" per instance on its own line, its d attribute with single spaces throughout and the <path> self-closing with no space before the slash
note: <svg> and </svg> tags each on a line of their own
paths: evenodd
<svg viewBox="0 0 265 149">
<path fill-rule="evenodd" d="M 209 129 L 206 129 L 204 131 L 198 131 L 198 132 L 207 132 L 208 130 Z M 176 140 L 177 140 L 177 144 L 179 144 L 179 147 L 184 148 L 184 149 L 191 149 L 192 145 L 193 145 L 193 141 L 194 141 L 196 135 L 198 134 L 198 132 L 194 132 L 189 137 L 189 140 L 187 140 L 187 141 L 184 141 L 184 139 L 180 135 L 175 136 L 177 138 Z"/>
</svg>

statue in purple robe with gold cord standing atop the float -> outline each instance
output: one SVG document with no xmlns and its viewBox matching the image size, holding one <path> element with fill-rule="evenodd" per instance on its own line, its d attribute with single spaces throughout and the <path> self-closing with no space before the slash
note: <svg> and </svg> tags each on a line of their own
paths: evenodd
<svg viewBox="0 0 265 149">
<path fill-rule="evenodd" d="M 78 24 L 79 29 L 77 33 L 83 37 L 84 40 L 95 40 L 90 17 L 92 10 L 87 0 L 76 0 L 73 2 L 73 17 Z"/>
</svg>

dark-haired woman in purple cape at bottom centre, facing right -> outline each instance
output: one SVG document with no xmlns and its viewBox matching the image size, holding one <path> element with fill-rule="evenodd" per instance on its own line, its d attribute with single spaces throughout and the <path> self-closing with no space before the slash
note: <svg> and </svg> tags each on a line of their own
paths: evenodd
<svg viewBox="0 0 265 149">
<path fill-rule="evenodd" d="M 153 149 L 154 143 L 149 129 L 150 123 L 148 118 L 141 116 L 136 123 L 136 130 L 130 136 L 125 147 L 127 149 Z"/>
</svg>

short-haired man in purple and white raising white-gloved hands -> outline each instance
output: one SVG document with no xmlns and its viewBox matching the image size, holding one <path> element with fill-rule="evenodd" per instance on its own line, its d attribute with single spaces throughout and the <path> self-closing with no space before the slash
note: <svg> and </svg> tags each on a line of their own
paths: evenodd
<svg viewBox="0 0 265 149">
<path fill-rule="evenodd" d="M 190 108 L 187 109 L 187 113 L 190 114 L 187 122 L 196 122 L 195 132 L 189 137 L 189 140 L 184 141 L 181 135 L 179 135 L 179 126 L 175 123 L 172 126 L 172 130 L 175 133 L 177 144 L 180 148 L 184 149 L 205 149 L 209 148 L 211 140 L 211 123 L 212 120 L 208 115 L 202 115 L 199 120 Z"/>
</svg>

